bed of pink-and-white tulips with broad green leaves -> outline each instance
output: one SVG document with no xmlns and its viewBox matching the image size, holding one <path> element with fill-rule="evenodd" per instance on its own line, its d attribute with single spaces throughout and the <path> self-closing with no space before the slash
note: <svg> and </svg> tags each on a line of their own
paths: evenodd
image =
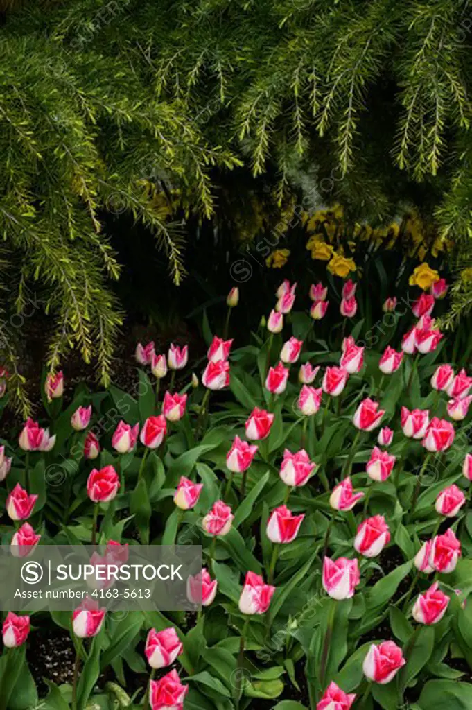
<svg viewBox="0 0 472 710">
<path fill-rule="evenodd" d="M 48 417 L 4 442 L 14 555 L 201 545 L 203 567 L 187 580 L 195 613 L 11 611 L 2 710 L 38 702 L 25 651 L 53 625 L 77 663 L 72 688 L 48 680 L 52 710 L 470 707 L 472 377 L 444 362 L 434 310 L 402 312 L 383 349 L 346 316 L 333 351 L 309 294 L 284 282 L 275 301 L 238 347 L 229 317 L 219 337 L 205 315 L 201 384 L 187 346 L 138 344 L 133 393 L 81 385 L 65 405 L 56 375 Z"/>
</svg>

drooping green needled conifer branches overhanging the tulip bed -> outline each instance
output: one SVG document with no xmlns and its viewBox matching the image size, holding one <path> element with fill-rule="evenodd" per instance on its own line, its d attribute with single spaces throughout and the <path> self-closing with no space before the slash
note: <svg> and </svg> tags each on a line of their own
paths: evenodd
<svg viewBox="0 0 472 710">
<path fill-rule="evenodd" d="M 107 383 L 117 294 L 162 320 L 158 290 L 190 270 L 207 286 L 209 274 L 227 280 L 232 253 L 294 200 L 341 202 L 352 224 L 415 207 L 454 241 L 453 273 L 468 266 L 468 1 L 9 0 L 1 11 L 4 308 L 40 295 L 54 316 L 50 368 L 78 349 Z M 136 278 L 150 235 L 160 252 Z M 450 324 L 471 295 L 458 280 Z M 24 408 L 15 335 L 4 329 L 4 358 Z"/>
</svg>

